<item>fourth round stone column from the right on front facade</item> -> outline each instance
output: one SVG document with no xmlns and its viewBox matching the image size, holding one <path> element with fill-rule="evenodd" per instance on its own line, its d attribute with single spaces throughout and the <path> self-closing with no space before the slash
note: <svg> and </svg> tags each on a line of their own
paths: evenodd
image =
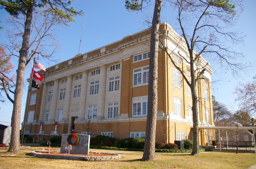
<svg viewBox="0 0 256 169">
<path fill-rule="evenodd" d="M 57 106 L 57 99 L 58 99 L 58 93 L 59 93 L 59 80 L 56 79 L 54 81 L 54 90 L 52 93 L 52 103 L 51 103 L 51 112 L 50 112 L 50 119 L 49 121 L 55 122 L 56 121 L 56 106 Z"/>
</svg>

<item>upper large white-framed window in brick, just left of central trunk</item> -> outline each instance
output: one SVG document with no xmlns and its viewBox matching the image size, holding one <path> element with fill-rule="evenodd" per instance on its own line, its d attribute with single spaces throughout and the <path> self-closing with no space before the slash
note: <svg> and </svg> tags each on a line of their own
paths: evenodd
<svg viewBox="0 0 256 169">
<path fill-rule="evenodd" d="M 133 86 L 149 83 L 149 66 L 133 70 Z"/>
</svg>

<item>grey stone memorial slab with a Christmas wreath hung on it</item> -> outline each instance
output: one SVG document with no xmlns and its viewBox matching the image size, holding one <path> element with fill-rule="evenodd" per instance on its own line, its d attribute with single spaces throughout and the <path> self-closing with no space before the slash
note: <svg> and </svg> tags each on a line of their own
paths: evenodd
<svg viewBox="0 0 256 169">
<path fill-rule="evenodd" d="M 70 134 L 62 134 L 61 138 L 61 153 L 68 153 L 65 147 L 68 147 L 69 144 L 67 142 L 67 137 Z M 76 134 L 79 137 L 79 143 L 78 145 L 72 147 L 71 150 L 69 150 L 70 154 L 89 154 L 90 149 L 90 135 L 83 135 L 83 134 Z M 74 138 L 71 137 L 71 142 L 74 142 Z"/>
</svg>

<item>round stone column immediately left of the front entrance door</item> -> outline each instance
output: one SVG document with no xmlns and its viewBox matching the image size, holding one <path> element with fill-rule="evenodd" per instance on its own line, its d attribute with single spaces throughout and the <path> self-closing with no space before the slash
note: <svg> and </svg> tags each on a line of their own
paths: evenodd
<svg viewBox="0 0 256 169">
<path fill-rule="evenodd" d="M 64 120 L 64 121 L 69 120 L 68 118 L 69 118 L 70 99 L 72 96 L 71 93 L 73 91 L 72 81 L 73 81 L 73 76 L 67 76 L 65 103 L 64 103 L 64 110 L 63 110 L 63 115 L 62 115 L 62 120 Z"/>
</svg>

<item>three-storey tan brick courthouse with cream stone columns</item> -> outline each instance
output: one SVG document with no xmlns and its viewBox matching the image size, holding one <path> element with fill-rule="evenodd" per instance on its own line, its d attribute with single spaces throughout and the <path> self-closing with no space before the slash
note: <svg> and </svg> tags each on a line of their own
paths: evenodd
<svg viewBox="0 0 256 169">
<path fill-rule="evenodd" d="M 189 57 L 181 37 L 166 23 L 160 25 L 159 35 L 189 77 L 189 64 L 177 54 Z M 25 134 L 35 135 L 36 140 L 73 131 L 92 137 L 145 137 L 149 48 L 150 29 L 146 29 L 41 72 L 40 90 L 31 91 Z M 196 66 L 206 63 L 201 58 Z M 200 126 L 214 126 L 211 74 L 208 64 L 204 79 L 197 83 Z M 159 50 L 156 140 L 192 140 L 192 131 L 191 90 Z M 200 130 L 199 144 L 207 145 L 211 136 L 211 132 Z"/>
</svg>

